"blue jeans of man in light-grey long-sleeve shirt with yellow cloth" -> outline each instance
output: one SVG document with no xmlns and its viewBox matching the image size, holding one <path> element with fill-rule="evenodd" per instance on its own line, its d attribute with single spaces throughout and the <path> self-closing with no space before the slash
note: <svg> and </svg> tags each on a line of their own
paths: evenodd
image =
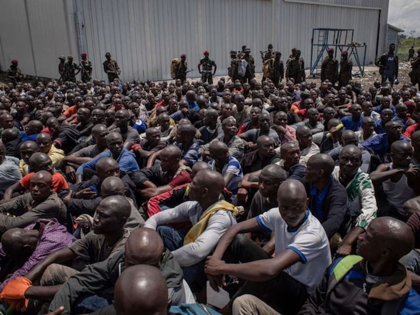
<svg viewBox="0 0 420 315">
<path fill-rule="evenodd" d="M 173 252 L 184 246 L 184 238 L 188 229 L 176 230 L 170 226 L 160 225 L 157 227 L 157 233 L 162 238 L 163 246 Z M 188 267 L 182 267 L 184 279 L 194 293 L 199 292 L 206 285 L 207 276 L 204 273 L 204 263 L 205 260 Z"/>
</svg>

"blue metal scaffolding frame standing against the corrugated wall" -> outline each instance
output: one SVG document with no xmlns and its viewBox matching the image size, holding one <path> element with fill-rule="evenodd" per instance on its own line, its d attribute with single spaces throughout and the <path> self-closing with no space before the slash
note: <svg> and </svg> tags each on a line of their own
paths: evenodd
<svg viewBox="0 0 420 315">
<path fill-rule="evenodd" d="M 334 48 L 334 57 L 341 59 L 341 52 L 347 51 L 348 58 L 356 61 L 360 75 L 365 73 L 366 44 L 353 41 L 354 29 L 314 28 L 312 30 L 311 71 L 310 76 L 317 77 L 321 73 L 323 54 Z M 361 62 L 359 51 L 363 50 Z"/>
</svg>

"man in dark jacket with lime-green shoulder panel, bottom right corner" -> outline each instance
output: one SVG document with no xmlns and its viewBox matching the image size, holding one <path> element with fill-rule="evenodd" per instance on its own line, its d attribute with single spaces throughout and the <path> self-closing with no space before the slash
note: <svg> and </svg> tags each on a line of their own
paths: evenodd
<svg viewBox="0 0 420 315">
<path fill-rule="evenodd" d="M 398 262 L 413 245 L 407 224 L 391 217 L 372 220 L 358 237 L 360 256 L 334 262 L 299 314 L 419 314 L 420 296 Z"/>
</svg>

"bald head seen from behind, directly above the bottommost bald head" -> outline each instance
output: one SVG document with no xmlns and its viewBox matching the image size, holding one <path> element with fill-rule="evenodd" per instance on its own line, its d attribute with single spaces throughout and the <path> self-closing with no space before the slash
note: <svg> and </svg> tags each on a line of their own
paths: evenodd
<svg viewBox="0 0 420 315">
<path fill-rule="evenodd" d="M 153 229 L 140 227 L 131 232 L 125 243 L 125 266 L 149 264 L 158 266 L 163 253 L 163 242 Z"/>
</svg>

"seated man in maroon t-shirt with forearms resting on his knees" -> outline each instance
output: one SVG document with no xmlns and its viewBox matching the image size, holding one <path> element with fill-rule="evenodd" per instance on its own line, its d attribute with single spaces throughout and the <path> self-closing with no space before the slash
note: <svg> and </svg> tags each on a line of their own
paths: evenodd
<svg viewBox="0 0 420 315">
<path fill-rule="evenodd" d="M 167 146 L 160 151 L 159 164 L 143 168 L 131 175 L 143 198 L 149 199 L 191 182 L 189 171 L 180 163 L 181 158 L 181 149 Z"/>
</svg>

